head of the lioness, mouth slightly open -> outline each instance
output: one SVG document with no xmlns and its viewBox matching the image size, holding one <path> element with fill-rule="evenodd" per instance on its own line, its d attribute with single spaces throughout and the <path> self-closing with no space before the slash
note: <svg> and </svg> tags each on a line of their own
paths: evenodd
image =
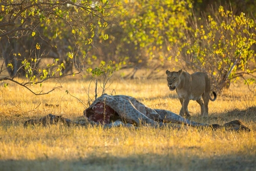
<svg viewBox="0 0 256 171">
<path fill-rule="evenodd" d="M 178 72 L 170 72 L 166 70 L 166 75 L 167 75 L 167 86 L 171 91 L 175 90 L 177 86 L 180 84 L 180 74 L 182 70 Z"/>
</svg>

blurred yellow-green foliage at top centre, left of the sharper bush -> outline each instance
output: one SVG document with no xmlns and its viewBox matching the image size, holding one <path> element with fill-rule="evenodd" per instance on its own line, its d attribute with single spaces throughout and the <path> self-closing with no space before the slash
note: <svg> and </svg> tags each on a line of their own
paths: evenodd
<svg viewBox="0 0 256 171">
<path fill-rule="evenodd" d="M 190 1 L 136 1 L 130 2 L 127 12 L 120 22 L 126 34 L 122 41 L 136 51 L 137 63 L 153 66 L 177 59 L 174 45 L 180 45 L 184 39 L 186 19 L 192 8 Z"/>
</svg>

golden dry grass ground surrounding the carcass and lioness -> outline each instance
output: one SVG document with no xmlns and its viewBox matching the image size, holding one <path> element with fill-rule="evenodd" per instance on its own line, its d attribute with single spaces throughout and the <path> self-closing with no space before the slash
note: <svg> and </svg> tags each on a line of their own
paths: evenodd
<svg viewBox="0 0 256 171">
<path fill-rule="evenodd" d="M 44 83 L 44 89 L 56 82 Z M 29 126 L 23 122 L 49 113 L 81 119 L 90 81 L 81 77 L 65 81 L 61 90 L 35 96 L 9 84 L 0 92 L 0 170 L 255 170 L 256 97 L 237 83 L 209 102 L 209 117 L 201 118 L 200 106 L 190 101 L 191 120 L 224 124 L 242 120 L 250 132 L 198 130 L 193 127 L 139 130 L 116 127 Z M 83 88 L 84 87 L 84 88 Z M 98 86 L 99 87 L 99 86 Z M 94 96 L 91 84 L 91 98 Z M 116 78 L 107 93 L 138 98 L 147 106 L 179 113 L 176 92 L 165 79 Z M 99 89 L 99 95 L 101 90 Z M 46 106 L 45 104 L 58 106 Z"/>
</svg>

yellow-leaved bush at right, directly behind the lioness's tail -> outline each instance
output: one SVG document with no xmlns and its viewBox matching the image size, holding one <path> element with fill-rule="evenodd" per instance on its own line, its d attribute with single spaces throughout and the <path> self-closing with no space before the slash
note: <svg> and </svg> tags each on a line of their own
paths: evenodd
<svg viewBox="0 0 256 171">
<path fill-rule="evenodd" d="M 244 13 L 234 15 L 222 6 L 211 12 L 201 19 L 204 25 L 199 24 L 200 18 L 191 20 L 192 29 L 182 47 L 187 67 L 209 73 L 214 89 L 219 91 L 240 77 L 246 83 L 254 82 L 255 21 Z"/>
</svg>

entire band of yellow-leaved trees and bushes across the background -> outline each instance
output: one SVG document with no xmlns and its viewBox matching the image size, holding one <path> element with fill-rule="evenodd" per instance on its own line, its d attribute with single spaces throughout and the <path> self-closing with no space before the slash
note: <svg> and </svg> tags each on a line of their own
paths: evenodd
<svg viewBox="0 0 256 171">
<path fill-rule="evenodd" d="M 256 71 L 256 20 L 250 10 L 255 4 L 240 3 L 0 1 L 0 80 L 28 88 L 84 71 L 97 76 L 131 67 L 133 77 L 147 68 L 151 78 L 182 68 L 207 72 L 215 90 L 239 78 L 249 85 Z M 20 76 L 28 81 L 17 82 Z"/>
</svg>

